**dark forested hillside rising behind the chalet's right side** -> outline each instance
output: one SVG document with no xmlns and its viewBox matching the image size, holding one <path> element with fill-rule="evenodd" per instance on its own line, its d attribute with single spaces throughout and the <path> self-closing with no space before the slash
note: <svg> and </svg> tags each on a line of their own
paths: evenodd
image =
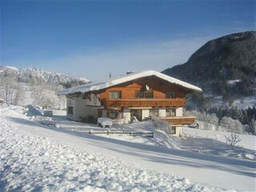
<svg viewBox="0 0 256 192">
<path fill-rule="evenodd" d="M 162 73 L 200 86 L 204 93 L 254 94 L 256 32 L 230 34 L 206 42 L 186 63 Z"/>
</svg>

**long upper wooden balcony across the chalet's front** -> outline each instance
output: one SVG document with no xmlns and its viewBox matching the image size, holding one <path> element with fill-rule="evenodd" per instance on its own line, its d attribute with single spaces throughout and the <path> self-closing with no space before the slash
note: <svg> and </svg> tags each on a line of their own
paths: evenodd
<svg viewBox="0 0 256 192">
<path fill-rule="evenodd" d="M 126 106 L 126 107 L 164 107 L 164 106 L 185 106 L 185 98 L 134 98 L 134 99 L 102 99 L 102 106 Z"/>
</svg>

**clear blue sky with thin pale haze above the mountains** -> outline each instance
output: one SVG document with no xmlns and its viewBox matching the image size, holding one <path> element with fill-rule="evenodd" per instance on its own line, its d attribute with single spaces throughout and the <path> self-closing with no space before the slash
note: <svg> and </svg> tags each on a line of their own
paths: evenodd
<svg viewBox="0 0 256 192">
<path fill-rule="evenodd" d="M 184 63 L 213 38 L 255 30 L 255 1 L 1 1 L 1 66 L 94 82 Z"/>
</svg>

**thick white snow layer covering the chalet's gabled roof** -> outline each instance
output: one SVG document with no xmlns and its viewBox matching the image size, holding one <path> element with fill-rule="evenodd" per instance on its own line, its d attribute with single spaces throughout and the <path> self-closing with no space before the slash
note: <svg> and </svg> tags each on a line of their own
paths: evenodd
<svg viewBox="0 0 256 192">
<path fill-rule="evenodd" d="M 102 90 L 102 89 L 106 89 L 110 86 L 116 86 L 116 85 L 122 84 L 124 82 L 130 82 L 130 81 L 138 79 L 138 78 L 145 78 L 145 77 L 149 77 L 149 76 L 156 76 L 158 78 L 162 78 L 162 79 L 166 80 L 167 82 L 177 84 L 177 85 L 185 87 L 187 89 L 190 89 L 190 90 L 193 90 L 196 92 L 202 92 L 202 90 L 198 86 L 193 86 L 190 83 L 182 82 L 181 80 L 178 80 L 177 78 L 172 78 L 166 74 L 162 74 L 162 73 L 159 73 L 154 70 L 145 70 L 145 71 L 138 72 L 138 73 L 126 74 L 126 75 L 124 75 L 122 77 L 118 77 L 118 78 L 110 78 L 106 82 L 88 83 L 88 84 L 85 84 L 82 86 L 71 87 L 70 89 L 66 89 L 66 90 L 59 90 L 57 92 L 57 94 L 58 95 L 67 95 L 67 94 L 75 94 L 75 93 L 79 93 L 79 92 L 86 93 L 86 92 L 90 92 L 90 91 L 94 91 L 94 90 Z"/>
</svg>

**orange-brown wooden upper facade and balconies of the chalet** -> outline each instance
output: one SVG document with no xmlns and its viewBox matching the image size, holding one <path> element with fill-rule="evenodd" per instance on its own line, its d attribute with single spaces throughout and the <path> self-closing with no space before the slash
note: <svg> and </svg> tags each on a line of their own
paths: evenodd
<svg viewBox="0 0 256 192">
<path fill-rule="evenodd" d="M 122 113 L 124 107 L 128 109 L 146 107 L 158 110 L 178 109 L 186 105 L 186 93 L 186 89 L 180 86 L 170 84 L 160 78 L 148 77 L 112 86 L 97 94 L 100 94 L 101 106 L 104 106 L 104 109 L 119 108 L 118 113 Z M 102 114 L 102 110 L 99 110 L 99 114 Z M 182 126 L 193 123 L 195 117 L 171 116 L 162 117 L 162 120 L 170 122 L 173 126 Z"/>
</svg>

